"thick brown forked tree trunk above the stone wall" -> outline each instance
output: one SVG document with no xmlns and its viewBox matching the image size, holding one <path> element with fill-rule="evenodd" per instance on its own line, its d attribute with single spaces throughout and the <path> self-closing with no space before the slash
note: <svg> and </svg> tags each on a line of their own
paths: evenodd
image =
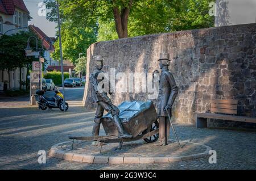
<svg viewBox="0 0 256 181">
<path fill-rule="evenodd" d="M 113 0 L 113 5 L 115 0 Z M 130 14 L 131 5 L 133 0 L 130 0 L 129 5 L 122 7 L 121 13 L 119 12 L 118 6 L 113 7 L 114 19 L 115 19 L 115 30 L 119 39 L 128 37 L 128 17 Z"/>
</svg>

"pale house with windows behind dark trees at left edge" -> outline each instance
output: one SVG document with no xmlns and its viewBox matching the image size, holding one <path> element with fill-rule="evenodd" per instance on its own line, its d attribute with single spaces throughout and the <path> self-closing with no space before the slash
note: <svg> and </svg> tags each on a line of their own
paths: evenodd
<svg viewBox="0 0 256 181">
<path fill-rule="evenodd" d="M 28 27 L 28 20 L 30 20 L 30 12 L 27 10 L 23 0 L 0 0 L 0 36 L 26 31 L 26 29 L 13 29 Z M 7 89 L 19 89 L 20 74 L 22 74 L 22 81 L 26 81 L 27 68 L 22 68 L 21 72 L 17 68 L 11 71 L 10 74 L 7 71 L 0 70 L 0 91 L 3 90 L 4 82 L 7 82 Z"/>
</svg>

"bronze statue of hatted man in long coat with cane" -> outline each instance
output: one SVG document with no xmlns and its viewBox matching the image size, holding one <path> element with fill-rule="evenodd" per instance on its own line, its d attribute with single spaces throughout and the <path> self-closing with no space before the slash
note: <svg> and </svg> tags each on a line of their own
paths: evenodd
<svg viewBox="0 0 256 181">
<path fill-rule="evenodd" d="M 179 91 L 176 86 L 174 76 L 171 71 L 168 70 L 168 66 L 170 65 L 169 58 L 169 54 L 162 53 L 158 60 L 162 72 L 159 79 L 159 95 L 157 103 L 159 117 L 159 141 L 154 144 L 155 146 L 168 145 L 170 126 L 172 126 L 171 120 L 168 119 L 171 118 L 172 104 L 174 104 L 174 100 Z M 173 127 L 172 129 L 174 130 Z"/>
</svg>

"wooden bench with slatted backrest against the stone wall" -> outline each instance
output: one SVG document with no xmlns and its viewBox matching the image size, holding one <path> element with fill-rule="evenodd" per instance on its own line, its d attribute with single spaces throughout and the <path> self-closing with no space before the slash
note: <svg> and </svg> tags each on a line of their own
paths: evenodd
<svg viewBox="0 0 256 181">
<path fill-rule="evenodd" d="M 256 123 L 256 117 L 236 116 L 237 103 L 237 100 L 212 100 L 210 104 L 212 113 L 197 113 L 196 127 L 207 128 L 207 118 Z"/>
</svg>

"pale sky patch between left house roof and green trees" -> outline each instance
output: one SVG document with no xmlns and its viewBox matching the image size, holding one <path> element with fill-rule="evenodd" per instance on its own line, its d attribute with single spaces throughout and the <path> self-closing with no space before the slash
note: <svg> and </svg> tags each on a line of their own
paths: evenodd
<svg viewBox="0 0 256 181">
<path fill-rule="evenodd" d="M 55 27 L 56 23 L 49 22 L 46 16 L 39 16 L 38 11 L 40 7 L 38 4 L 43 2 L 43 0 L 23 0 L 27 6 L 28 11 L 30 11 L 31 21 L 28 24 L 34 24 L 34 26 L 39 27 L 44 33 L 49 37 L 55 37 Z M 48 11 L 47 11 L 48 12 Z"/>
</svg>

